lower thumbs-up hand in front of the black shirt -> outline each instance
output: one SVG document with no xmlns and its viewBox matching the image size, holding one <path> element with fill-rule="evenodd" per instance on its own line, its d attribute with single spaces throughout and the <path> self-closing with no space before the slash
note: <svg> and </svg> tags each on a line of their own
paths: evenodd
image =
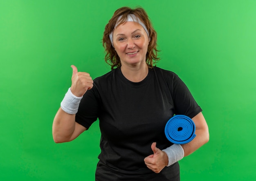
<svg viewBox="0 0 256 181">
<path fill-rule="evenodd" d="M 151 149 L 153 155 L 149 155 L 144 159 L 146 166 L 153 172 L 159 173 L 168 165 L 168 156 L 165 152 L 156 147 L 156 142 L 152 143 Z"/>
</svg>

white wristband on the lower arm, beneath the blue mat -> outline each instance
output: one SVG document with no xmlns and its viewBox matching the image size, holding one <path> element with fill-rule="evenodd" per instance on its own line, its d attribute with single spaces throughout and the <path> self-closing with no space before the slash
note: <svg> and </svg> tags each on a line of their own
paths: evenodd
<svg viewBox="0 0 256 181">
<path fill-rule="evenodd" d="M 184 157 L 184 150 L 180 144 L 173 144 L 162 151 L 166 152 L 168 156 L 167 166 L 171 166 L 173 163 L 180 161 Z"/>
</svg>

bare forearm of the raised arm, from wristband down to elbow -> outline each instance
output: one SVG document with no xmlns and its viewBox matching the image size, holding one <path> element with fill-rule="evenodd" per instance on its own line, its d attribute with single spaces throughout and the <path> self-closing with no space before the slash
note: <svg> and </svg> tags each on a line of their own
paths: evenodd
<svg viewBox="0 0 256 181">
<path fill-rule="evenodd" d="M 56 143 L 71 141 L 76 125 L 75 116 L 65 113 L 59 108 L 52 124 L 52 135 Z"/>
</svg>

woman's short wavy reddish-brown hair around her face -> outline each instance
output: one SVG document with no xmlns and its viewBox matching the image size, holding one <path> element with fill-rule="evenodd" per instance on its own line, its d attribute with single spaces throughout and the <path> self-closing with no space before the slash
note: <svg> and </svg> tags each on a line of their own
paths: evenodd
<svg viewBox="0 0 256 181">
<path fill-rule="evenodd" d="M 117 23 L 126 22 L 129 14 L 133 14 L 136 16 L 136 18 L 139 18 L 139 20 L 141 20 L 141 22 L 144 23 L 148 29 L 150 42 L 148 44 L 148 51 L 146 53 L 146 64 L 149 68 L 152 68 L 153 65 L 159 60 L 159 57 L 157 57 L 157 52 L 159 51 L 157 50 L 157 33 L 153 28 L 146 11 L 141 7 L 135 9 L 130 7 L 121 7 L 115 11 L 108 24 L 106 24 L 102 39 L 103 47 L 106 51 L 105 61 L 111 66 L 111 70 L 120 67 L 121 61 L 120 57 L 115 51 L 115 48 L 111 44 L 109 34 L 115 29 L 115 25 Z M 121 18 L 119 19 L 120 16 Z M 117 20 L 119 22 L 117 22 Z"/>
</svg>

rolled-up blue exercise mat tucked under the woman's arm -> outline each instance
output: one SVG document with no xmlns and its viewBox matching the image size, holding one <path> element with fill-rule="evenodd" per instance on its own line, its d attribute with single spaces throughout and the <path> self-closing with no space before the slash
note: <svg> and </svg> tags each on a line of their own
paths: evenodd
<svg viewBox="0 0 256 181">
<path fill-rule="evenodd" d="M 185 115 L 175 115 L 166 123 L 166 138 L 175 144 L 185 144 L 195 138 L 195 123 Z"/>
</svg>

